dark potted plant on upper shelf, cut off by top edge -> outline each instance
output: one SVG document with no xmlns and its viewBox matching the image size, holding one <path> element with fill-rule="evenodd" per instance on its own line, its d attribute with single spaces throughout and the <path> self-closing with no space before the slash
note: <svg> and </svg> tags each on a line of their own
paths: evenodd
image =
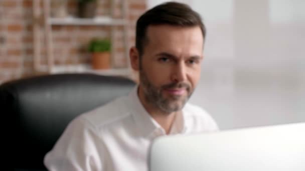
<svg viewBox="0 0 305 171">
<path fill-rule="evenodd" d="M 97 0 L 77 0 L 78 16 L 81 18 L 93 18 L 96 13 Z"/>
</svg>

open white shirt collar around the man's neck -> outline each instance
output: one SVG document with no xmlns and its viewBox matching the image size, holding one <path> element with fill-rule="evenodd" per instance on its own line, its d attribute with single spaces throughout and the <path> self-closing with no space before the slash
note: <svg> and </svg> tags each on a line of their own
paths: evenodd
<svg viewBox="0 0 305 171">
<path fill-rule="evenodd" d="M 165 135 L 165 130 L 161 125 L 150 116 L 142 105 L 138 97 L 138 86 L 136 86 L 128 95 L 129 102 L 131 103 L 131 109 L 135 124 L 138 127 L 143 137 L 156 137 L 159 135 Z M 184 133 L 186 132 L 187 126 L 185 122 L 185 111 L 183 110 L 176 115 L 170 134 Z"/>
</svg>

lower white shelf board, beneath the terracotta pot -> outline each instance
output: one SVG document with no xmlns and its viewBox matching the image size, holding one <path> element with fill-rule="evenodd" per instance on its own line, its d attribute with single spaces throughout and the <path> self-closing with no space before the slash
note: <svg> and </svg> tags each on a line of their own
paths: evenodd
<svg viewBox="0 0 305 171">
<path fill-rule="evenodd" d="M 130 70 L 128 68 L 112 68 L 112 69 L 92 69 L 87 64 L 77 65 L 56 65 L 52 67 L 51 73 L 71 73 L 71 72 L 86 72 L 96 73 L 101 75 L 116 75 L 116 76 L 130 76 Z"/>
</svg>

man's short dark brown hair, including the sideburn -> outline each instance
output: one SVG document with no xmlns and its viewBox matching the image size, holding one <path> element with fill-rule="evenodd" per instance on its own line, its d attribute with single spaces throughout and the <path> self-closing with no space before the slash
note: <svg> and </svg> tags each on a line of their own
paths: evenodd
<svg viewBox="0 0 305 171">
<path fill-rule="evenodd" d="M 200 15 L 189 5 L 179 2 L 166 2 L 147 10 L 136 21 L 135 47 L 139 55 L 147 42 L 146 30 L 149 25 L 169 24 L 174 26 L 200 26 L 203 38 L 206 28 Z"/>
</svg>

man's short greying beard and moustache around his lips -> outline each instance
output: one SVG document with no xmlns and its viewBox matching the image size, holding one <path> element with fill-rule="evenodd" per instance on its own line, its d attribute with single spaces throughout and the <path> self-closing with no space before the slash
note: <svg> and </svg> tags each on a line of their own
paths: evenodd
<svg viewBox="0 0 305 171">
<path fill-rule="evenodd" d="M 193 93 L 191 85 L 185 82 L 173 82 L 170 84 L 162 85 L 161 87 L 154 86 L 147 78 L 143 69 L 139 72 L 140 83 L 143 87 L 144 98 L 146 102 L 154 105 L 165 113 L 171 113 L 181 110 L 190 96 Z M 163 96 L 163 90 L 172 88 L 185 88 L 187 95 L 170 95 L 168 97 Z"/>
</svg>

